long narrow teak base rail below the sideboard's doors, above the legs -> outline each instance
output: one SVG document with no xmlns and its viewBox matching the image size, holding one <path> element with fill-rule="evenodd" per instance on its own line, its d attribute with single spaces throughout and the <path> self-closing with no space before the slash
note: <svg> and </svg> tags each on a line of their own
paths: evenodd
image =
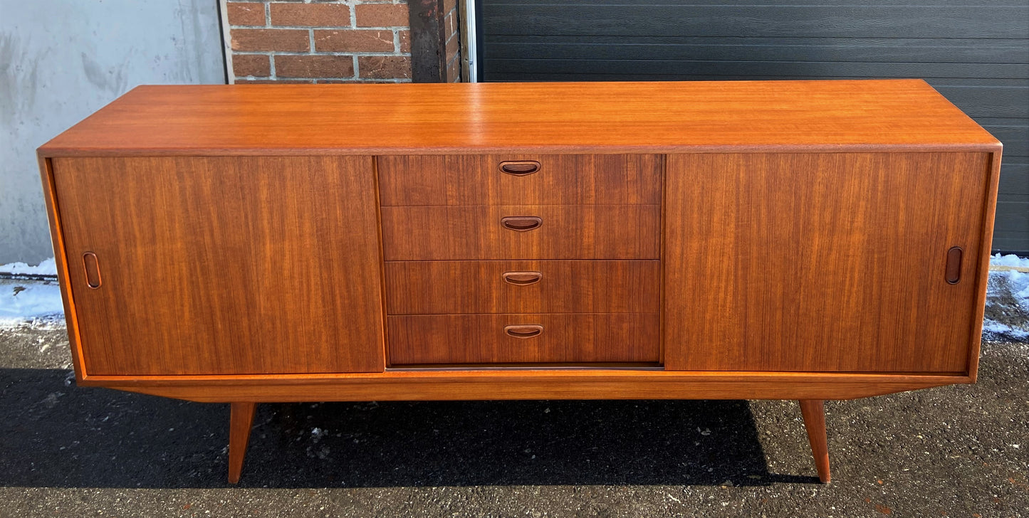
<svg viewBox="0 0 1029 518">
<path fill-rule="evenodd" d="M 518 399 L 863 398 L 954 383 L 968 376 L 819 372 L 681 372 L 627 368 L 386 369 L 368 374 L 88 376 L 112 386 L 206 402 Z"/>
</svg>

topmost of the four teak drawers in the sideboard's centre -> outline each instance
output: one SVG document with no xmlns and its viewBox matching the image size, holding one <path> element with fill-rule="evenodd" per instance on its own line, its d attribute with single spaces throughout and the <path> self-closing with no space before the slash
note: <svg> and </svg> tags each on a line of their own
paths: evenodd
<svg viewBox="0 0 1029 518">
<path fill-rule="evenodd" d="M 418 155 L 377 160 L 383 206 L 661 203 L 661 155 Z"/>
</svg>

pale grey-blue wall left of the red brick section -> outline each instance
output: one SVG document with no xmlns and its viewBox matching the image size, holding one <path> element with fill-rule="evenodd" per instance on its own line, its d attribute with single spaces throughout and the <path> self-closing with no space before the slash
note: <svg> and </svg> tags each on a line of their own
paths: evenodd
<svg viewBox="0 0 1029 518">
<path fill-rule="evenodd" d="M 0 264 L 54 255 L 35 150 L 144 83 L 223 83 L 217 0 L 0 0 Z"/>
</svg>

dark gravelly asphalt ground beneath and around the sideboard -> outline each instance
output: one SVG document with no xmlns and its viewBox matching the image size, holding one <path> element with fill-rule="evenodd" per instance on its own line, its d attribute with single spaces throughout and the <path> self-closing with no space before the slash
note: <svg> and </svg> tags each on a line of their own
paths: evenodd
<svg viewBox="0 0 1029 518">
<path fill-rule="evenodd" d="M 0 516 L 1029 517 L 1018 339 L 975 385 L 827 402 L 826 485 L 795 402 L 523 401 L 260 405 L 234 487 L 227 405 L 76 387 L 37 322 L 0 329 Z"/>
</svg>

